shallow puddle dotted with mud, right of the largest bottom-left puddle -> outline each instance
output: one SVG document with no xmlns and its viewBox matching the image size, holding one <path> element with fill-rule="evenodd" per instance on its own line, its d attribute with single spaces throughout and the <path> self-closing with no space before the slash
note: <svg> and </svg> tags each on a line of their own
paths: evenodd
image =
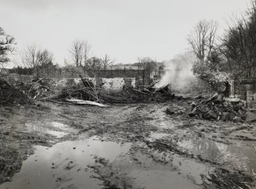
<svg viewBox="0 0 256 189">
<path fill-rule="evenodd" d="M 139 151 L 134 153 L 135 159 L 144 166 L 141 169 L 133 168 L 129 173 L 140 188 L 201 188 L 199 186 L 214 171 L 209 165 L 175 153 L 155 151 L 150 156 L 146 154 Z"/>
</svg>

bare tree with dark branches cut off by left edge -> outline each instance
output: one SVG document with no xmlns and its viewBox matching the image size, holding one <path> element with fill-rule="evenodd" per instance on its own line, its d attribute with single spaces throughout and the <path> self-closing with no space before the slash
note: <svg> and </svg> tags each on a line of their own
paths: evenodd
<svg viewBox="0 0 256 189">
<path fill-rule="evenodd" d="M 8 53 L 15 50 L 15 38 L 5 34 L 5 31 L 0 27 L 0 66 L 4 66 L 10 59 Z"/>
</svg>

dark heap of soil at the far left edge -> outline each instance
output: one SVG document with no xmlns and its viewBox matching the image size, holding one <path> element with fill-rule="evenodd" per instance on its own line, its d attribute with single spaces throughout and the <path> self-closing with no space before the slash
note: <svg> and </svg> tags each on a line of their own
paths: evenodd
<svg viewBox="0 0 256 189">
<path fill-rule="evenodd" d="M 27 104 L 27 96 L 0 78 L 0 105 Z"/>
</svg>

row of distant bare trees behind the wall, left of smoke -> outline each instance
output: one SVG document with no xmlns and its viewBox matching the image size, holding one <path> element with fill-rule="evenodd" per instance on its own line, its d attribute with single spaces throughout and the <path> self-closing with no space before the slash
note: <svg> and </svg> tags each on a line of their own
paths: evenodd
<svg viewBox="0 0 256 189">
<path fill-rule="evenodd" d="M 62 73 L 62 72 L 79 72 L 90 76 L 98 75 L 102 69 L 113 66 L 115 59 L 108 54 L 102 57 L 90 56 L 91 45 L 86 40 L 74 40 L 69 49 L 69 58 L 64 59 L 64 66 L 58 66 L 54 61 L 53 53 L 50 50 L 42 49 L 35 44 L 24 47 L 13 56 L 10 60 L 8 54 L 15 50 L 15 38 L 5 34 L 0 27 L 0 36 L 5 40 L 0 41 L 0 63 L 3 67 L 6 63 L 12 62 L 15 67 L 10 69 L 10 73 L 18 73 L 24 75 L 32 75 L 39 77 L 40 73 Z M 128 65 L 126 65 L 128 66 Z M 138 62 L 130 64 L 130 66 L 138 66 L 142 69 L 157 69 L 157 61 L 150 57 L 138 58 Z"/>
</svg>

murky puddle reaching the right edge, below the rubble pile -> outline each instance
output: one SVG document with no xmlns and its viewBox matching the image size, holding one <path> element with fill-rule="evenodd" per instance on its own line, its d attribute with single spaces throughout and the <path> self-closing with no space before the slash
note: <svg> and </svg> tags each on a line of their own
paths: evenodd
<svg viewBox="0 0 256 189">
<path fill-rule="evenodd" d="M 223 144 L 210 139 L 184 139 L 177 143 L 183 149 L 194 155 L 215 162 L 235 162 L 236 168 L 248 171 L 251 175 L 256 172 L 256 146 L 252 141 L 238 141 L 236 144 Z"/>
</svg>

